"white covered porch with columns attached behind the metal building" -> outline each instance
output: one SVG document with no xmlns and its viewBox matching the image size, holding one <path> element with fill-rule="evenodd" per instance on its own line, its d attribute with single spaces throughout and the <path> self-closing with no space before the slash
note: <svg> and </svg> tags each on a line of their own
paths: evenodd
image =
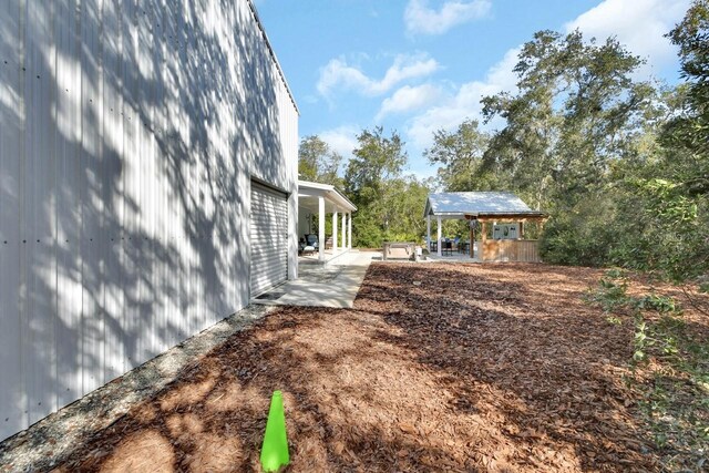
<svg viewBox="0 0 709 473">
<path fill-rule="evenodd" d="M 356 210 L 357 206 L 335 186 L 298 181 L 299 259 L 325 264 L 349 251 Z"/>
</svg>

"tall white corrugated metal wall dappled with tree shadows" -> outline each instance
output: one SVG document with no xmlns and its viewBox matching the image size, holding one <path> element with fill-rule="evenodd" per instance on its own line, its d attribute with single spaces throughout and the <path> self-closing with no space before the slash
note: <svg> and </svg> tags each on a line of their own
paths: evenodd
<svg viewBox="0 0 709 473">
<path fill-rule="evenodd" d="M 0 439 L 243 308 L 297 146 L 246 0 L 0 2 Z"/>
</svg>

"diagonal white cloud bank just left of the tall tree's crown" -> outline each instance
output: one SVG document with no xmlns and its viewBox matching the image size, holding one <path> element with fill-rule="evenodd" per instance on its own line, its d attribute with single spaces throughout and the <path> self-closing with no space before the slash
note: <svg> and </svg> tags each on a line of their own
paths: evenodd
<svg viewBox="0 0 709 473">
<path fill-rule="evenodd" d="M 423 150 L 430 146 L 433 132 L 441 128 L 452 130 L 465 119 L 480 120 L 480 100 L 483 96 L 513 91 L 516 88 L 516 75 L 512 69 L 517 63 L 518 53 L 518 48 L 508 50 L 502 61 L 490 68 L 484 81 L 462 84 L 454 94 L 413 117 L 407 130 L 409 141 L 419 150 Z"/>
</svg>

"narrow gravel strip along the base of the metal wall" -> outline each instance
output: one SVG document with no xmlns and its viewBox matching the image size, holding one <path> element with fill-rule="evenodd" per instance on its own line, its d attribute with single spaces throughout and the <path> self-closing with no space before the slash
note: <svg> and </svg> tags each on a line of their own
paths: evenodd
<svg viewBox="0 0 709 473">
<path fill-rule="evenodd" d="M 55 467 L 90 435 L 173 382 L 196 357 L 274 309 L 250 305 L 0 442 L 0 471 L 34 472 Z"/>
</svg>

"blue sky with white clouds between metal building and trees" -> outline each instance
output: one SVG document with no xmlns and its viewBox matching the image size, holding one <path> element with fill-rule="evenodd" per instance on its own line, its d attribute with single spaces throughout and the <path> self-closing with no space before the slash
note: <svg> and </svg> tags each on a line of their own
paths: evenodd
<svg viewBox="0 0 709 473">
<path fill-rule="evenodd" d="M 662 35 L 689 0 L 256 0 L 300 109 L 299 134 L 346 158 L 362 128 L 407 142 L 409 173 L 435 130 L 480 117 L 480 99 L 514 90 L 516 51 L 540 30 L 615 35 L 645 58 L 641 79 L 679 80 Z"/>
</svg>

